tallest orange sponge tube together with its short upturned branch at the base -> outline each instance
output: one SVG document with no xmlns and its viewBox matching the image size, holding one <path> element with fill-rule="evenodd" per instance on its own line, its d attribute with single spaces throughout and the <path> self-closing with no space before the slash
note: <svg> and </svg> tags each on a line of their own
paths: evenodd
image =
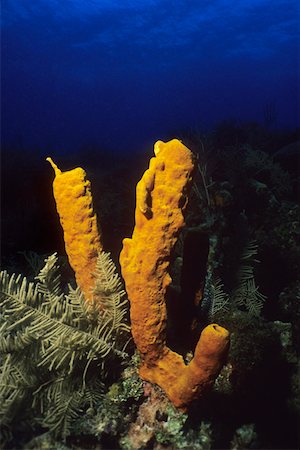
<svg viewBox="0 0 300 450">
<path fill-rule="evenodd" d="M 166 290 L 171 251 L 184 226 L 183 212 L 194 170 L 190 150 L 177 139 L 158 141 L 136 188 L 135 228 L 124 239 L 122 275 L 131 303 L 131 329 L 141 353 L 140 376 L 159 385 L 182 410 L 209 388 L 222 368 L 229 333 L 216 324 L 201 333 L 186 365 L 166 345 Z"/>
</svg>

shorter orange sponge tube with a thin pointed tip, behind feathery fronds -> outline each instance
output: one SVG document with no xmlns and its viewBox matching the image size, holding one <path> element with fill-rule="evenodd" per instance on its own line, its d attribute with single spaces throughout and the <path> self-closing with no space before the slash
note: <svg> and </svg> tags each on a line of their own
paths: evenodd
<svg viewBox="0 0 300 450">
<path fill-rule="evenodd" d="M 55 172 L 53 193 L 69 262 L 85 300 L 90 301 L 95 285 L 97 257 L 102 251 L 91 184 L 82 168 L 62 172 L 51 158 L 47 161 Z"/>
</svg>

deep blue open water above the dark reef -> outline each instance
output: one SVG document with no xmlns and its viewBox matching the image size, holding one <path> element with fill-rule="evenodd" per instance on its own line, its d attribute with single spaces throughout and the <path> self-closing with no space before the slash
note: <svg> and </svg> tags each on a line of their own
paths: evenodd
<svg viewBox="0 0 300 450">
<path fill-rule="evenodd" d="M 299 125 L 296 0 L 2 0 L 2 140 L 152 147 L 220 120 Z"/>
</svg>

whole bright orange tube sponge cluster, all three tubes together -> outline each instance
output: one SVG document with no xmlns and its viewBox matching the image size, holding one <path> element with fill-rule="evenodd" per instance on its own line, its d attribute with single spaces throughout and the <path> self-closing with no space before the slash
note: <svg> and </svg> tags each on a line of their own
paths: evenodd
<svg viewBox="0 0 300 450">
<path fill-rule="evenodd" d="M 176 407 L 186 410 L 221 370 L 229 333 L 217 324 L 207 326 L 188 365 L 166 345 L 168 268 L 184 226 L 194 161 L 190 150 L 177 139 L 158 141 L 154 153 L 136 187 L 135 228 L 131 239 L 123 241 L 120 264 L 131 304 L 132 335 L 142 356 L 140 375 L 158 384 Z M 102 251 L 91 185 L 82 168 L 62 172 L 51 158 L 47 161 L 55 172 L 53 192 L 66 252 L 77 284 L 90 301 Z"/>
</svg>

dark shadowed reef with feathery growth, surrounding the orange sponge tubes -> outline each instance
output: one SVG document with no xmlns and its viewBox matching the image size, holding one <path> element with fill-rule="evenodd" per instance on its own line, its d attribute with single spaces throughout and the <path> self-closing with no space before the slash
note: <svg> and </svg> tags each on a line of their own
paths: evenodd
<svg viewBox="0 0 300 450">
<path fill-rule="evenodd" d="M 298 448 L 299 130 L 228 121 L 211 133 L 183 130 L 176 137 L 194 152 L 196 172 L 186 226 L 171 256 L 167 342 L 188 362 L 205 325 L 217 322 L 230 331 L 229 355 L 212 392 L 181 413 L 139 378 L 122 281 L 113 281 L 122 239 L 134 226 L 135 186 L 152 149 L 39 155 L 5 148 L 3 448 Z M 99 260 L 97 289 L 106 299 L 100 319 L 74 288 L 46 156 L 63 170 L 83 167 L 92 183 L 104 250 L 111 252 Z M 54 252 L 58 257 L 49 257 Z M 12 273 L 26 276 L 35 290 L 22 290 Z"/>
</svg>

